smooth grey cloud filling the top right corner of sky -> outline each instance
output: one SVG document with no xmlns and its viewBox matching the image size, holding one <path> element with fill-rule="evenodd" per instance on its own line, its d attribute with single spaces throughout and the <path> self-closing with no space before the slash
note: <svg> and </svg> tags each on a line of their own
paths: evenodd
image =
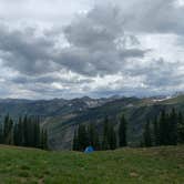
<svg viewBox="0 0 184 184">
<path fill-rule="evenodd" d="M 183 34 L 184 7 L 174 0 L 141 0 L 134 11 L 124 14 L 126 29 L 132 31 Z M 132 7 L 132 8 L 133 8 Z"/>
</svg>

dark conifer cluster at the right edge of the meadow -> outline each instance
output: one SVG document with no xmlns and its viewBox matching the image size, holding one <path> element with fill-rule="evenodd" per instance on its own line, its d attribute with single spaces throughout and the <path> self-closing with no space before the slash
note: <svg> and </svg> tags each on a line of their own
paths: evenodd
<svg viewBox="0 0 184 184">
<path fill-rule="evenodd" d="M 184 120 L 181 112 L 172 109 L 171 112 L 162 110 L 154 120 L 147 120 L 142 146 L 176 145 L 184 143 Z"/>
</svg>

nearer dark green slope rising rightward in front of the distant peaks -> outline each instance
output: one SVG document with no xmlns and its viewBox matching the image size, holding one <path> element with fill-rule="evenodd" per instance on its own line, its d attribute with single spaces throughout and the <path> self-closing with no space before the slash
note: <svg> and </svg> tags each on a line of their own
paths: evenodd
<svg viewBox="0 0 184 184">
<path fill-rule="evenodd" d="M 85 109 L 68 116 L 58 115 L 45 121 L 49 127 L 49 144 L 53 150 L 70 150 L 74 129 L 78 124 L 95 123 L 96 130 L 102 134 L 103 119 L 109 115 L 111 123 L 117 129 L 120 115 L 125 114 L 127 125 L 129 145 L 140 145 L 142 131 L 147 119 L 153 120 L 161 110 L 171 111 L 175 108 L 184 113 L 184 96 L 154 101 L 150 99 L 122 98 L 106 102 L 101 106 Z"/>
</svg>

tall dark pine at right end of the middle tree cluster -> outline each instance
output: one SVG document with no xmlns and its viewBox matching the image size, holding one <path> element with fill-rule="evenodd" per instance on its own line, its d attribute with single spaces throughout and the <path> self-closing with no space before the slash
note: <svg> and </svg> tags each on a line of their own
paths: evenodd
<svg viewBox="0 0 184 184">
<path fill-rule="evenodd" d="M 121 116 L 120 120 L 120 127 L 119 127 L 119 145 L 120 147 L 126 146 L 127 142 L 126 142 L 126 120 L 124 117 L 124 115 Z"/>
</svg>

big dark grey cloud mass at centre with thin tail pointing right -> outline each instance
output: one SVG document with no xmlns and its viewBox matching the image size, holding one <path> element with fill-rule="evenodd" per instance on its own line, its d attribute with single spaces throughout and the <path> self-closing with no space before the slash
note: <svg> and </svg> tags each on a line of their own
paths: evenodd
<svg viewBox="0 0 184 184">
<path fill-rule="evenodd" d="M 146 51 L 119 48 L 126 35 L 117 8 L 95 7 L 64 29 L 70 48 L 61 51 L 58 63 L 84 75 L 114 74 L 129 58 L 143 58 Z M 113 68 L 112 68 L 113 64 Z"/>
</svg>

